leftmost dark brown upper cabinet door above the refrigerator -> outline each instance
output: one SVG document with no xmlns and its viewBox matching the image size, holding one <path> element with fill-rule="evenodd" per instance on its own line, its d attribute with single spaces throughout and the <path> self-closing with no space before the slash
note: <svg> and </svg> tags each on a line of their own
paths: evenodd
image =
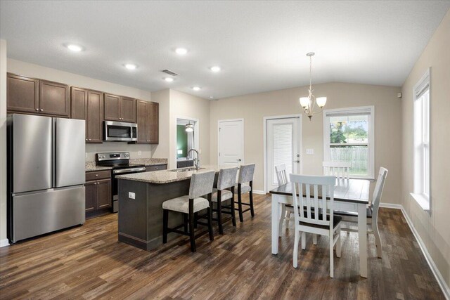
<svg viewBox="0 0 450 300">
<path fill-rule="evenodd" d="M 39 112 L 39 80 L 8 73 L 7 110 Z"/>
</svg>

